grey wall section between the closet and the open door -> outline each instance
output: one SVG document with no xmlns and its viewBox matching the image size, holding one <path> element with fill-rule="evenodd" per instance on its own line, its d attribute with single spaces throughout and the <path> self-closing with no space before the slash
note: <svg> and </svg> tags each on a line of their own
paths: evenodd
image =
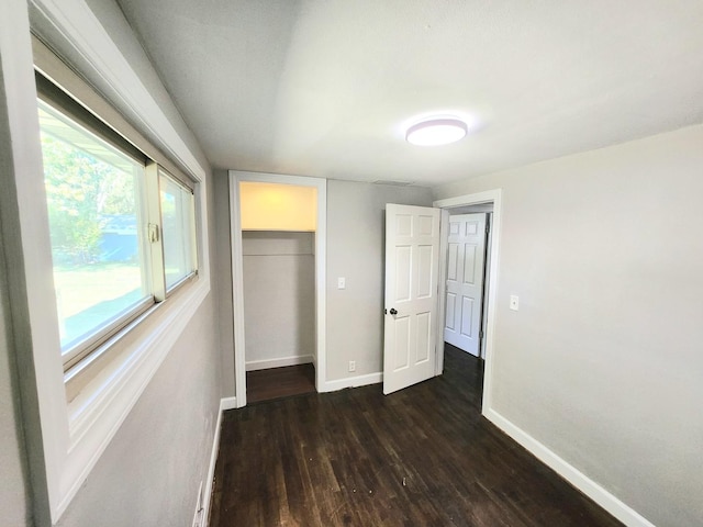
<svg viewBox="0 0 703 527">
<path fill-rule="evenodd" d="M 421 187 L 327 181 L 327 380 L 383 370 L 386 203 L 432 206 Z M 337 278 L 346 289 L 337 289 Z M 349 360 L 356 372 L 348 372 Z"/>
</svg>

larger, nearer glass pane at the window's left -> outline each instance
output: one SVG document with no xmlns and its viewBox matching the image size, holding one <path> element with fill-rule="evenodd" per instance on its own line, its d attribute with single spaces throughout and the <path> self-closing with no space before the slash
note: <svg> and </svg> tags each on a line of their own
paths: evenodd
<svg viewBox="0 0 703 527">
<path fill-rule="evenodd" d="M 40 101 L 62 351 L 92 341 L 150 296 L 144 167 Z"/>
</svg>

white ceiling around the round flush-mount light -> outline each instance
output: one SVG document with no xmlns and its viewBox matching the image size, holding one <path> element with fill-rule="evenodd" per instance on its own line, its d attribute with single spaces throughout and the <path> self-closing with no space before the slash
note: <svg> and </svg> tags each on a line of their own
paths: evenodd
<svg viewBox="0 0 703 527">
<path fill-rule="evenodd" d="M 215 168 L 432 187 L 703 122 L 701 0 L 118 1 Z"/>
</svg>

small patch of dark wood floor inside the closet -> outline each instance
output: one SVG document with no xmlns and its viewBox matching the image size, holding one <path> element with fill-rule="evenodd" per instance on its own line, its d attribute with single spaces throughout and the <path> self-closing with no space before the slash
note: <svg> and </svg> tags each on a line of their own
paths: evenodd
<svg viewBox="0 0 703 527">
<path fill-rule="evenodd" d="M 315 367 L 312 365 L 246 372 L 246 401 L 248 404 L 314 392 Z"/>
</svg>

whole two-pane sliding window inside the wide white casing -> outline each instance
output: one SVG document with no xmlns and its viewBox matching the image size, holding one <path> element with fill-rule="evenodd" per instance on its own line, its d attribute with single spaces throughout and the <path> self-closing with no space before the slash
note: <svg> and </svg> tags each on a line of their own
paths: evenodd
<svg viewBox="0 0 703 527">
<path fill-rule="evenodd" d="M 68 370 L 197 276 L 194 198 L 187 182 L 41 75 L 37 86 L 56 309 Z"/>
</svg>

